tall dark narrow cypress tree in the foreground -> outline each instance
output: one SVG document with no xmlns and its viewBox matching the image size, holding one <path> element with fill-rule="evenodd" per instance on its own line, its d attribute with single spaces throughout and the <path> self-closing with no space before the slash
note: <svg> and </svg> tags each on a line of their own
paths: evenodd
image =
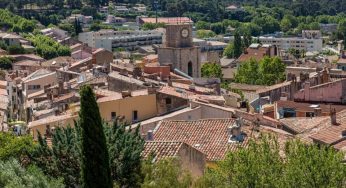
<svg viewBox="0 0 346 188">
<path fill-rule="evenodd" d="M 95 95 L 90 86 L 81 87 L 80 102 L 82 187 L 111 188 L 112 180 L 106 137 Z"/>
</svg>

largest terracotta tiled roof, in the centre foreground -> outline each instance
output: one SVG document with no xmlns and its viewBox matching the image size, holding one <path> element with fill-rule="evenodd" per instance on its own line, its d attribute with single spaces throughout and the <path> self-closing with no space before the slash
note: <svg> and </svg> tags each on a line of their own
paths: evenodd
<svg viewBox="0 0 346 188">
<path fill-rule="evenodd" d="M 228 151 L 228 127 L 233 123 L 234 119 L 162 121 L 154 131 L 154 140 L 186 142 L 205 153 L 208 160 L 220 160 Z"/>
</svg>

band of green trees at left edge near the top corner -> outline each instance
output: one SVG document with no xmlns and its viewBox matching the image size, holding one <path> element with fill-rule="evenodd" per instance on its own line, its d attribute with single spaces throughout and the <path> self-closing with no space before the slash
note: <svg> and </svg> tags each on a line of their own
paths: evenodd
<svg viewBox="0 0 346 188">
<path fill-rule="evenodd" d="M 17 16 L 8 10 L 0 9 L 0 27 L 9 29 L 13 32 L 32 32 L 35 22 Z"/>
</svg>

